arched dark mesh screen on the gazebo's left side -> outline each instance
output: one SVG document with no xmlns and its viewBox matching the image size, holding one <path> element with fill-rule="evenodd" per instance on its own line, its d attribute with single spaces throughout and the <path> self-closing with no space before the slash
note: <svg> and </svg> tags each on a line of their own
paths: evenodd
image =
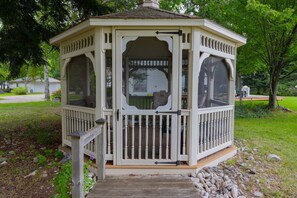
<svg viewBox="0 0 297 198">
<path fill-rule="evenodd" d="M 92 62 L 85 57 L 72 58 L 67 67 L 69 105 L 96 107 L 96 78 Z"/>
</svg>

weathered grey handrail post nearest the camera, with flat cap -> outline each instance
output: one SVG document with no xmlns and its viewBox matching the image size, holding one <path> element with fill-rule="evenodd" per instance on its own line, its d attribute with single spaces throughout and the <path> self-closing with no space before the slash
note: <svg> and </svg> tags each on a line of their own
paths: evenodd
<svg viewBox="0 0 297 198">
<path fill-rule="evenodd" d="M 84 197 L 84 146 L 81 137 L 85 132 L 77 131 L 71 136 L 72 145 L 72 197 Z"/>
</svg>

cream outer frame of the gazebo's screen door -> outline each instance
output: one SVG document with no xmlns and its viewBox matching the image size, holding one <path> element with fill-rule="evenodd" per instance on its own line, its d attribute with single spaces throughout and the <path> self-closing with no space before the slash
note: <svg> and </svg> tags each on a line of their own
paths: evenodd
<svg viewBox="0 0 297 198">
<path fill-rule="evenodd" d="M 123 159 L 123 145 L 122 145 L 122 130 L 123 130 L 123 110 L 122 110 L 122 54 L 123 54 L 123 38 L 125 36 L 131 37 L 131 40 L 136 40 L 138 37 L 168 37 L 172 38 L 172 82 L 171 83 L 171 96 L 172 96 L 172 111 L 178 111 L 180 108 L 180 38 L 178 34 L 173 32 L 179 32 L 178 29 L 162 29 L 164 35 L 158 35 L 158 29 L 154 30 L 115 30 L 115 111 L 114 116 L 116 120 L 116 163 L 114 165 L 149 165 L 152 164 L 152 160 L 148 163 L 130 163 Z M 134 38 L 133 38 L 134 37 Z M 159 39 L 160 40 L 160 39 Z M 129 41 L 128 41 L 129 42 Z M 128 42 L 124 43 L 127 44 Z M 125 46 L 126 47 L 126 46 Z M 175 80 L 178 79 L 178 80 Z M 137 111 L 137 110 L 136 110 Z M 144 111 L 144 110 L 141 110 Z M 151 110 L 150 110 L 151 111 Z M 172 128 L 171 128 L 171 148 L 170 157 L 171 161 L 177 161 L 178 159 L 178 129 L 180 128 L 180 119 L 178 115 L 172 116 Z M 177 123 L 177 124 L 173 124 Z M 126 161 L 126 162 L 125 162 Z"/>
</svg>

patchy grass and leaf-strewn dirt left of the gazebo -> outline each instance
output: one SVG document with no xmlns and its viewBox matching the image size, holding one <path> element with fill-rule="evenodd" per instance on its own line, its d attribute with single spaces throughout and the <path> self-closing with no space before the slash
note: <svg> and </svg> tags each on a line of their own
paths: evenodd
<svg viewBox="0 0 297 198">
<path fill-rule="evenodd" d="M 63 155 L 60 103 L 0 104 L 0 197 L 52 197 Z M 30 176 L 31 174 L 31 176 Z"/>
</svg>

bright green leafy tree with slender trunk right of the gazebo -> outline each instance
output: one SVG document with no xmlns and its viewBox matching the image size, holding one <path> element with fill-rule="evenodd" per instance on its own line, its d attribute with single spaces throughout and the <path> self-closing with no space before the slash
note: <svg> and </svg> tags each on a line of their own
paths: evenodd
<svg viewBox="0 0 297 198">
<path fill-rule="evenodd" d="M 297 2 L 295 0 L 175 0 L 174 2 L 178 7 L 183 4 L 186 13 L 215 20 L 248 38 L 248 43 L 238 49 L 238 72 L 241 74 L 267 72 L 269 107 L 276 108 L 279 82 L 297 72 Z"/>
</svg>

